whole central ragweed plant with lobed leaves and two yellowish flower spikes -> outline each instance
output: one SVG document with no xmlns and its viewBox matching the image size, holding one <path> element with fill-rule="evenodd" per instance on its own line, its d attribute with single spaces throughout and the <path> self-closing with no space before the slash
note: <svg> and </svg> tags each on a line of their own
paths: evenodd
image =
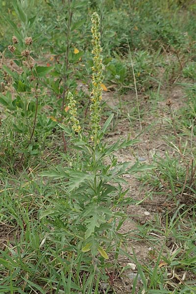
<svg viewBox="0 0 196 294">
<path fill-rule="evenodd" d="M 59 124 L 69 138 L 69 153 L 64 154 L 66 164 L 57 166 L 43 175 L 62 179 L 64 192 L 61 197 L 54 199 L 54 204 L 44 211 L 41 218 L 47 217 L 49 227 L 53 227 L 53 234 L 47 233 L 54 242 L 60 242 L 66 249 L 68 256 L 78 252 L 78 257 L 91 252 L 91 259 L 85 260 L 86 265 L 96 262 L 102 256 L 108 259 L 108 252 L 117 250 L 122 242 L 123 234 L 119 229 L 123 225 L 126 215 L 123 205 L 127 203 L 124 198 L 128 189 L 123 174 L 142 172 L 153 166 L 140 165 L 136 162 L 130 166 L 129 162 L 118 163 L 114 151 L 128 148 L 140 140 L 120 139 L 108 146 L 102 142 L 113 115 L 111 115 L 101 128 L 100 100 L 101 82 L 103 80 L 102 57 L 100 47 L 100 33 L 98 32 L 98 14 L 92 16 L 93 34 L 93 90 L 91 104 L 91 129 L 89 132 L 80 130 L 76 111 L 76 102 L 69 92 L 68 100 L 72 126 Z M 83 129 L 83 128 L 82 128 Z M 94 145 L 92 146 L 92 137 Z M 100 142 L 99 142 L 99 141 Z M 74 152 L 72 152 L 72 149 Z M 73 158 L 72 158 L 73 157 Z M 72 158 L 72 164 L 70 165 Z M 108 162 L 108 163 L 106 163 Z M 53 203 L 53 201 L 52 201 Z M 117 209 L 118 208 L 118 209 Z M 122 209 L 120 209 L 122 208 Z M 62 242 L 63 240 L 63 242 Z M 115 241 L 115 242 L 113 242 Z M 100 261 L 103 260 L 100 258 Z M 96 262 L 96 268 L 99 262 Z M 101 265 L 102 267 L 102 265 Z M 89 270 L 90 271 L 90 270 Z"/>
</svg>

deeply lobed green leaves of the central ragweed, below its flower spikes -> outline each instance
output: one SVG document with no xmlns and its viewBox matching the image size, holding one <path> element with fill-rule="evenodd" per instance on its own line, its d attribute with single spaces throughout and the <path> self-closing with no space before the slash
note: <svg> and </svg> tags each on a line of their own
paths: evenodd
<svg viewBox="0 0 196 294">
<path fill-rule="evenodd" d="M 101 130 L 101 137 L 106 132 L 109 121 L 111 117 Z M 61 127 L 66 136 L 71 138 L 72 148 L 77 151 L 71 167 L 59 166 L 42 174 L 55 179 L 63 179 L 66 189 L 66 199 L 59 199 L 55 206 L 43 212 L 42 218 L 49 216 L 49 223 L 54 227 L 57 219 L 60 220 L 57 230 L 55 229 L 54 240 L 56 240 L 55 236 L 58 235 L 59 238 L 66 230 L 65 242 L 67 245 L 70 245 L 73 238 L 76 238 L 77 246 L 86 248 L 88 245 L 88 249 L 91 249 L 95 256 L 98 253 L 98 246 L 105 242 L 111 245 L 111 241 L 117 234 L 114 224 L 117 219 L 125 218 L 123 213 L 115 213 L 108 209 L 108 207 L 114 209 L 123 203 L 125 194 L 121 184 L 126 184 L 123 174 L 153 169 L 154 166 L 140 165 L 139 162 L 132 167 L 127 162 L 117 164 L 117 160 L 112 155 L 114 150 L 130 147 L 138 140 L 119 141 L 110 147 L 100 141 L 94 148 L 89 143 L 91 134 L 88 137 L 80 134 L 74 136 L 73 132 L 64 125 L 61 124 Z M 111 163 L 105 165 L 103 162 L 107 157 L 111 158 Z M 69 157 L 67 161 L 69 164 Z M 123 221 L 121 221 L 122 224 Z M 118 233 L 118 235 L 120 238 L 121 234 Z M 86 249 L 83 250 L 86 251 Z"/>
</svg>

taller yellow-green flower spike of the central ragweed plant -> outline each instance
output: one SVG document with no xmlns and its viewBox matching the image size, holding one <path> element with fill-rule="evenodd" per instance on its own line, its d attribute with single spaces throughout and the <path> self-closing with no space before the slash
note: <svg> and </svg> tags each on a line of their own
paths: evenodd
<svg viewBox="0 0 196 294">
<path fill-rule="evenodd" d="M 92 45 L 93 50 L 93 76 L 92 76 L 92 93 L 91 93 L 91 128 L 92 128 L 92 140 L 95 144 L 98 143 L 98 131 L 100 129 L 100 101 L 102 99 L 102 81 L 103 81 L 103 64 L 101 56 L 101 43 L 100 43 L 100 32 L 99 32 L 99 17 L 96 12 L 93 13 L 92 18 Z"/>
</svg>

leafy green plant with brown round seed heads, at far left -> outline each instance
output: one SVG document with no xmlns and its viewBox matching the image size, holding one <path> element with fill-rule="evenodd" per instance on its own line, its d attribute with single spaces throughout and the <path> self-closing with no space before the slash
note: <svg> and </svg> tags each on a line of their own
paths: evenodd
<svg viewBox="0 0 196 294">
<path fill-rule="evenodd" d="M 14 154 L 15 160 L 19 160 L 18 153 L 22 154 L 21 161 L 24 154 L 37 155 L 40 153 L 44 144 L 41 147 L 36 137 L 40 132 L 40 139 L 44 143 L 56 123 L 46 115 L 40 115 L 43 100 L 46 97 L 42 79 L 52 70 L 52 67 L 39 66 L 32 57 L 33 39 L 28 37 L 27 33 L 35 21 L 35 16 L 28 17 L 27 1 L 15 0 L 13 6 L 21 21 L 21 27 L 18 28 L 11 20 L 8 20 L 15 35 L 12 37 L 12 44 L 8 46 L 12 59 L 9 64 L 4 62 L 2 68 L 11 80 L 1 83 L 3 91 L 0 94 L 0 103 L 12 118 L 9 123 L 12 129 L 10 128 L 5 136 L 10 138 L 15 136 L 15 142 L 10 148 L 13 148 L 16 153 Z M 7 140 L 3 143 L 5 142 Z M 17 148 L 14 148 L 16 143 Z"/>
</svg>

